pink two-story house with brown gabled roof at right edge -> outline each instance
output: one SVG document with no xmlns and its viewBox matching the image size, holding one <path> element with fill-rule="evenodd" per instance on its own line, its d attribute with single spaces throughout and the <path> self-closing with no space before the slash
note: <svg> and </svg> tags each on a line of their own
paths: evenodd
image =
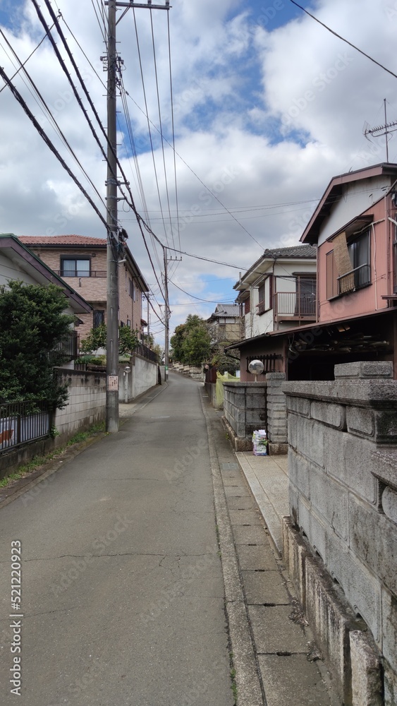
<svg viewBox="0 0 397 706">
<path fill-rule="evenodd" d="M 317 245 L 318 325 L 291 354 L 328 378 L 360 360 L 392 360 L 397 377 L 397 164 L 331 179 L 301 240 Z"/>
</svg>

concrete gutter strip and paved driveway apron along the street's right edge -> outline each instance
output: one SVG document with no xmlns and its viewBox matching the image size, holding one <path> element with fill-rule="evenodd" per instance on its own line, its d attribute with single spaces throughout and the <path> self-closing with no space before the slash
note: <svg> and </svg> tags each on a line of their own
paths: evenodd
<svg viewBox="0 0 397 706">
<path fill-rule="evenodd" d="M 340 706 L 281 560 L 275 507 L 280 509 L 282 493 L 269 500 L 252 469 L 263 459 L 253 457 L 251 465 L 249 454 L 235 453 L 221 412 L 205 393 L 202 398 L 238 706 Z M 282 463 L 273 471 L 285 476 Z M 272 532 L 262 515 L 265 505 L 274 518 Z"/>
</svg>

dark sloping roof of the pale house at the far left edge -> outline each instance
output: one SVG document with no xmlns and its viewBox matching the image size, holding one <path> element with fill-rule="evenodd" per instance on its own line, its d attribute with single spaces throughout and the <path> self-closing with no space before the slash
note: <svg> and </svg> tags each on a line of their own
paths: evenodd
<svg viewBox="0 0 397 706">
<path fill-rule="evenodd" d="M 73 287 L 47 267 L 13 233 L 0 234 L 0 251 L 8 258 L 12 258 L 13 263 L 30 275 L 33 280 L 36 280 L 38 284 L 47 285 L 51 282 L 51 284 L 61 287 L 75 313 L 90 313 L 92 311 L 92 306 L 83 297 L 80 297 Z"/>
</svg>

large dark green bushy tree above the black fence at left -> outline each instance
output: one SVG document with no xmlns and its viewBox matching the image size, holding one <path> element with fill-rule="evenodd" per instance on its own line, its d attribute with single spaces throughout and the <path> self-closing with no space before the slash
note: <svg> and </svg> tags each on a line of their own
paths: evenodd
<svg viewBox="0 0 397 706">
<path fill-rule="evenodd" d="M 1 285 L 0 402 L 47 399 L 63 407 L 68 388 L 56 381 L 54 366 L 66 361 L 61 344 L 74 318 L 65 306 L 55 285 Z"/>
</svg>

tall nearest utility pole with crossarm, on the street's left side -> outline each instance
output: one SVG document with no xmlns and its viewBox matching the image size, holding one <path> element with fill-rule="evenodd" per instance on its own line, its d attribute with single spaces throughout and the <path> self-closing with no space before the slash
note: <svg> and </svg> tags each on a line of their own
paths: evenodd
<svg viewBox="0 0 397 706">
<path fill-rule="evenodd" d="M 108 40 L 107 40 L 107 179 L 106 179 L 106 225 L 107 225 L 107 299 L 106 299 L 106 431 L 118 432 L 118 214 L 117 214 L 117 126 L 116 126 L 116 90 L 118 56 L 116 51 L 116 10 L 125 8 L 123 17 L 129 8 L 146 8 L 149 10 L 169 10 L 169 0 L 165 5 L 152 5 L 152 0 L 147 4 L 118 2 L 106 0 L 108 13 Z M 168 295 L 167 295 L 168 299 Z M 168 304 L 166 304 L 168 315 Z"/>
</svg>

